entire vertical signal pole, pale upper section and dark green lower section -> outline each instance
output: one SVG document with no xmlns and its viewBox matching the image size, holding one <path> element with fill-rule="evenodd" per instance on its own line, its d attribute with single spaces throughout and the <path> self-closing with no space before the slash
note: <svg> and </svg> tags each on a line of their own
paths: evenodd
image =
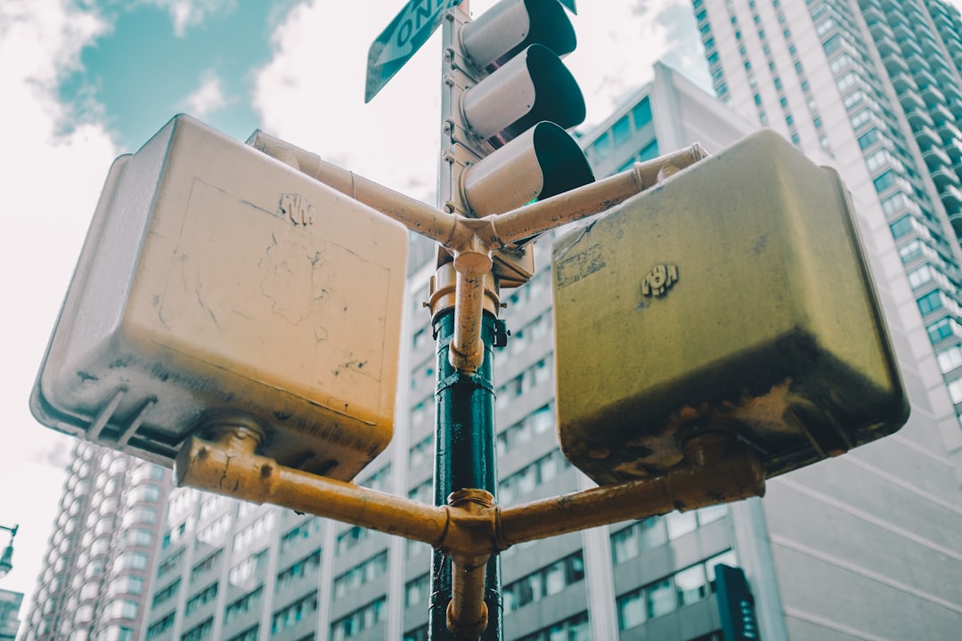
<svg viewBox="0 0 962 641">
<path fill-rule="evenodd" d="M 455 160 L 457 142 L 459 83 L 452 82 L 457 57 L 459 26 L 468 19 L 468 0 L 449 9 L 443 19 L 442 71 L 442 144 L 439 168 L 438 206 L 454 214 L 466 208 L 461 202 L 458 184 L 462 166 Z M 484 311 L 481 315 L 483 358 L 476 368 L 456 367 L 451 357 L 458 319 L 455 313 L 458 279 L 465 279 L 454 269 L 453 259 L 439 249 L 438 272 L 431 280 L 430 309 L 437 340 L 437 386 L 435 392 L 435 505 L 494 505 L 497 493 L 497 465 L 494 452 L 494 368 L 495 342 L 500 333 L 496 323 L 498 308 L 494 277 L 482 277 Z M 460 565 L 462 573 L 484 574 L 481 611 L 460 613 L 456 620 L 467 622 L 467 628 L 456 629 L 448 611 L 452 604 L 454 580 L 451 559 L 435 550 L 431 560 L 431 596 L 428 615 L 429 639 L 480 638 L 501 641 L 503 617 L 501 606 L 501 570 L 498 555 L 478 558 Z M 468 581 L 468 584 L 471 584 Z M 481 581 L 474 581 L 481 584 Z M 468 600 L 471 601 L 471 600 Z M 466 616 L 467 614 L 467 616 Z M 455 629 L 452 629 L 455 628 Z"/>
</svg>

